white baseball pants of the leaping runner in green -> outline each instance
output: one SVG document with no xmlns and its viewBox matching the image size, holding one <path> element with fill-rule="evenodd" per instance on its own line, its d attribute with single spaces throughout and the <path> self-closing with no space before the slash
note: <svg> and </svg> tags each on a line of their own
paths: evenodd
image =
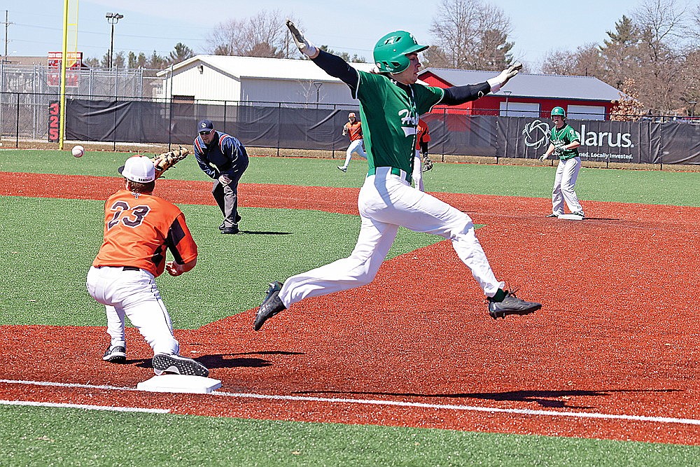
<svg viewBox="0 0 700 467">
<path fill-rule="evenodd" d="M 358 208 L 362 225 L 357 244 L 348 258 L 287 279 L 279 293 L 285 307 L 307 297 L 345 291 L 370 284 L 386 258 L 400 225 L 452 241 L 462 262 L 469 267 L 484 294 L 493 297 L 505 283 L 496 280 L 474 233 L 472 220 L 462 211 L 412 188 L 406 174 L 391 174 L 378 167 L 360 189 Z M 455 278 L 459 284 L 460 278 Z"/>
</svg>

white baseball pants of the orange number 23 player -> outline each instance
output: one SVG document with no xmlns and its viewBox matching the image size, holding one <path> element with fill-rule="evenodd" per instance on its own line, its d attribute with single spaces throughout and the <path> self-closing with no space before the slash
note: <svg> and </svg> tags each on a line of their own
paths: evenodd
<svg viewBox="0 0 700 467">
<path fill-rule="evenodd" d="M 87 291 L 105 305 L 107 333 L 111 345 L 126 347 L 124 317 L 144 336 L 153 354 L 178 354 L 180 344 L 153 274 L 144 270 L 125 271 L 122 267 L 90 267 Z"/>
</svg>

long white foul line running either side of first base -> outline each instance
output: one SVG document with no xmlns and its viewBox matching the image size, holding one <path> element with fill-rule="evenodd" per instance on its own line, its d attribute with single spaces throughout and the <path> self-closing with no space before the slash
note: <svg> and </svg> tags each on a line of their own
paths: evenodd
<svg viewBox="0 0 700 467">
<path fill-rule="evenodd" d="M 16 379 L 0 379 L 0 383 L 7 384 L 33 384 L 37 386 L 60 386 L 60 387 L 75 387 L 84 389 L 106 389 L 110 391 L 139 391 L 132 387 L 118 386 L 98 386 L 94 384 L 77 384 L 77 383 L 59 383 L 45 381 L 21 381 Z M 684 425 L 700 425 L 700 419 L 679 419 L 673 417 L 648 417 L 645 415 L 616 415 L 616 414 L 601 414 L 598 412 L 564 412 L 558 410 L 531 410 L 531 409 L 501 409 L 498 407 L 477 407 L 474 405 L 452 405 L 452 404 L 428 404 L 420 402 L 404 402 L 401 400 L 379 400 L 379 399 L 344 399 L 344 398 L 324 398 L 324 397 L 309 397 L 309 396 L 277 396 L 274 394 L 255 394 L 255 393 L 232 393 L 224 391 L 212 391 L 212 396 L 223 396 L 232 398 L 248 398 L 248 399 L 267 399 L 267 400 L 295 400 L 298 402 L 326 402 L 326 403 L 342 403 L 342 404 L 360 404 L 360 405 L 393 405 L 398 407 L 421 407 L 437 410 L 460 410 L 468 412 L 489 412 L 503 414 L 520 414 L 520 415 L 544 415 L 547 417 L 573 417 L 573 418 L 588 418 L 588 419 L 604 419 L 604 420 L 626 420 L 626 421 L 653 421 L 656 423 L 674 423 Z"/>
</svg>

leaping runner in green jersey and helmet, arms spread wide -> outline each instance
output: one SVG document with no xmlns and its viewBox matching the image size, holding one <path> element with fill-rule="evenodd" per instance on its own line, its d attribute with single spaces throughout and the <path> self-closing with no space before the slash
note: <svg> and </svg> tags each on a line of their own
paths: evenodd
<svg viewBox="0 0 700 467">
<path fill-rule="evenodd" d="M 342 58 L 325 53 L 304 39 L 287 21 L 297 47 L 330 76 L 349 85 L 360 101 L 369 171 L 360 189 L 358 209 L 362 225 L 357 244 L 348 258 L 270 284 L 255 316 L 259 330 L 267 319 L 307 297 L 344 291 L 369 284 L 386 257 L 400 225 L 450 239 L 457 255 L 472 272 L 489 301 L 496 319 L 508 314 L 529 314 L 540 309 L 505 291 L 475 235 L 472 220 L 462 211 L 410 186 L 416 147 L 416 125 L 422 113 L 435 104 L 457 105 L 496 92 L 515 76 L 519 64 L 477 85 L 447 89 L 416 84 L 418 53 L 428 46 L 416 43 L 405 31 L 386 34 L 374 46 L 378 74 L 357 71 Z M 461 278 L 455 278 L 456 295 Z"/>
</svg>

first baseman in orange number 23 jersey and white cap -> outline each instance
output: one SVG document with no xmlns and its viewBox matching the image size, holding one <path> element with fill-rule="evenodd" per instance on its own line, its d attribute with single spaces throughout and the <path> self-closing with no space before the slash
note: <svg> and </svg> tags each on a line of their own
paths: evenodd
<svg viewBox="0 0 700 467">
<path fill-rule="evenodd" d="M 125 363 L 124 319 L 153 349 L 153 371 L 207 376 L 209 370 L 192 358 L 179 355 L 180 344 L 160 298 L 155 278 L 167 270 L 172 276 L 197 264 L 197 244 L 174 204 L 153 195 L 153 162 L 136 156 L 120 168 L 125 188 L 104 204 L 104 242 L 87 272 L 87 291 L 105 305 L 111 342 L 104 361 Z M 165 252 L 174 261 L 165 262 Z"/>
</svg>

